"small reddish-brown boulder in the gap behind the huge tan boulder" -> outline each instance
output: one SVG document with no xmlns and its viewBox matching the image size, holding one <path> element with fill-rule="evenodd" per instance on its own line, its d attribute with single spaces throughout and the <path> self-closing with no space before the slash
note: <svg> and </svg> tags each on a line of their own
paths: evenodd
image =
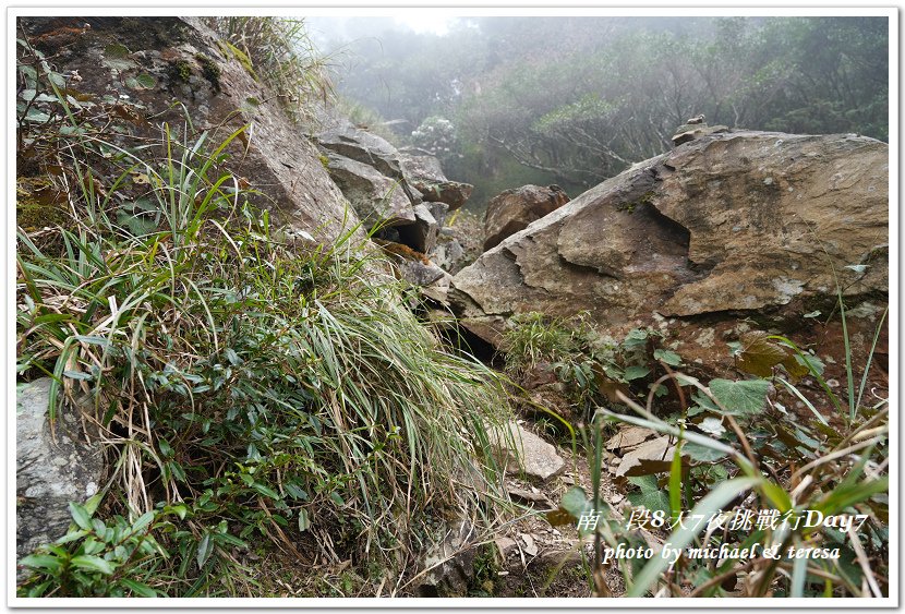
<svg viewBox="0 0 905 614">
<path fill-rule="evenodd" d="M 484 215 L 484 251 L 568 202 L 569 196 L 558 185 L 522 185 L 497 194 L 487 203 Z"/>
</svg>

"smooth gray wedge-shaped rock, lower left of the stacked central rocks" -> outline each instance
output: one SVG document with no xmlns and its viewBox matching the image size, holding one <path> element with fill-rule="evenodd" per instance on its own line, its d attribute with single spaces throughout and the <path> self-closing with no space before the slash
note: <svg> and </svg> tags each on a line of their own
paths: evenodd
<svg viewBox="0 0 905 614">
<path fill-rule="evenodd" d="M 375 225 L 400 226 L 417 220 L 415 212 L 399 184 L 366 164 L 330 154 L 330 177 L 367 229 Z"/>
</svg>

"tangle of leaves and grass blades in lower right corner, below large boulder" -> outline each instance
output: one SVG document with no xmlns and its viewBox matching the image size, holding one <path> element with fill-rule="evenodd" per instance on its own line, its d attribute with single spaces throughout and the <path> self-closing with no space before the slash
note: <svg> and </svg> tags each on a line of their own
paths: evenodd
<svg viewBox="0 0 905 614">
<path fill-rule="evenodd" d="M 890 594 L 888 366 L 876 369 L 886 312 L 856 363 L 842 290 L 837 300 L 844 353 L 824 358 L 844 368 L 845 384 L 826 376 L 813 349 L 761 330 L 727 344 L 735 373 L 704 381 L 687 374 L 651 329 L 614 344 L 594 340 L 580 318 L 514 318 L 510 372 L 547 364 L 572 401 L 592 409 L 576 429 L 592 487 L 567 491 L 547 519 L 581 521 L 593 535 L 594 594 L 614 594 L 613 568 L 625 597 Z M 696 374 L 708 373 L 697 366 Z M 614 446 L 606 442 L 626 426 L 648 430 L 651 452 L 639 453 L 625 475 L 610 475 Z M 625 460 L 631 449 L 617 456 Z M 608 481 L 627 494 L 627 507 L 604 496 Z M 614 554 L 653 542 L 676 554 Z M 700 554 L 721 547 L 736 554 Z"/>
</svg>

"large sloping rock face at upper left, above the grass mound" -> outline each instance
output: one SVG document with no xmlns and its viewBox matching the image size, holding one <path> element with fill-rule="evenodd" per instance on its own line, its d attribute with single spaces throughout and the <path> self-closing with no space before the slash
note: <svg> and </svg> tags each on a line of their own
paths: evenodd
<svg viewBox="0 0 905 614">
<path fill-rule="evenodd" d="M 225 167 L 266 194 L 260 204 L 275 221 L 326 240 L 354 226 L 316 147 L 280 107 L 285 93 L 257 81 L 248 60 L 201 20 L 29 16 L 20 17 L 19 26 L 36 49 L 52 56 L 53 70 L 72 75 L 71 99 L 124 118 L 118 129 L 159 141 L 167 123 L 191 144 L 197 134 L 180 134 L 182 127 L 209 129 L 208 143 L 217 143 L 249 125 L 227 149 Z"/>
</svg>

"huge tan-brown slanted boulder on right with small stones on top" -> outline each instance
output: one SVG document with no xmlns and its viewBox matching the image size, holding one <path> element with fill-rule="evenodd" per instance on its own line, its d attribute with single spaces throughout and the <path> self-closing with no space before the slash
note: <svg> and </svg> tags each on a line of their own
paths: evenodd
<svg viewBox="0 0 905 614">
<path fill-rule="evenodd" d="M 493 342 L 528 311 L 613 328 L 652 313 L 781 322 L 831 311 L 837 287 L 882 302 L 888 189 L 889 147 L 872 139 L 703 135 L 504 240 L 456 275 L 450 300 Z"/>
</svg>

